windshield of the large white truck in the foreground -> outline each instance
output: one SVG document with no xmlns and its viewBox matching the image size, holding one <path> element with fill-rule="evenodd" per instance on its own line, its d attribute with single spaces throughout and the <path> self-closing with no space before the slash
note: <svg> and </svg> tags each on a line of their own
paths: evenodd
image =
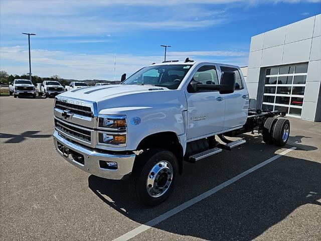
<svg viewBox="0 0 321 241">
<path fill-rule="evenodd" d="M 177 89 L 191 67 L 190 64 L 148 66 L 138 70 L 122 84 L 149 84 Z"/>
</svg>

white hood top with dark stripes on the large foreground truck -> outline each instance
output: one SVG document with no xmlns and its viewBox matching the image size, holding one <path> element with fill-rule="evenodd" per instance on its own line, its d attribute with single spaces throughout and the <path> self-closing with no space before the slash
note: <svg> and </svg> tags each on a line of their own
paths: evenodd
<svg viewBox="0 0 321 241">
<path fill-rule="evenodd" d="M 112 97 L 119 97 L 128 94 L 144 93 L 152 91 L 169 91 L 168 88 L 156 87 L 152 85 L 130 85 L 130 84 L 115 84 L 103 86 L 90 86 L 84 88 L 77 88 L 59 96 L 89 100 L 99 102 L 101 100 L 109 99 Z"/>
</svg>

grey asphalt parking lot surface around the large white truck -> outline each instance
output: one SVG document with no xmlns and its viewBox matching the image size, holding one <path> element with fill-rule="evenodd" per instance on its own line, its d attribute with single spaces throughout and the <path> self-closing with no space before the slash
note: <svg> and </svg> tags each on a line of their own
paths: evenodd
<svg viewBox="0 0 321 241">
<path fill-rule="evenodd" d="M 290 118 L 283 148 L 257 135 L 186 163 L 172 196 L 144 208 L 128 181 L 75 168 L 55 151 L 53 99 L 0 97 L 2 240 L 113 240 L 296 147 L 131 240 L 320 240 L 321 124 Z"/>
</svg>

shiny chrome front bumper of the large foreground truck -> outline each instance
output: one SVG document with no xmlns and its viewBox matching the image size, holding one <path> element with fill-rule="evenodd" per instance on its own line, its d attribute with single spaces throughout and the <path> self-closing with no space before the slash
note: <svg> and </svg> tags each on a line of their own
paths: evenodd
<svg viewBox="0 0 321 241">
<path fill-rule="evenodd" d="M 90 174 L 107 179 L 120 180 L 125 175 L 131 173 L 136 156 L 134 153 L 125 155 L 92 151 L 66 140 L 65 138 L 61 137 L 57 131 L 54 132 L 54 143 L 57 152 L 69 163 L 82 169 L 83 171 L 89 172 Z M 84 164 L 81 164 L 70 157 L 67 158 L 58 148 L 58 144 L 61 144 L 73 152 L 82 155 L 84 157 Z M 117 169 L 101 168 L 99 161 L 116 162 Z"/>
</svg>

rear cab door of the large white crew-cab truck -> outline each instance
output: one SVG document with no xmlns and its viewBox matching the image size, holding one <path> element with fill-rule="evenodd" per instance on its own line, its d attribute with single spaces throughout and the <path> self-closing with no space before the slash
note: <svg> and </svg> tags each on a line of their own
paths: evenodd
<svg viewBox="0 0 321 241">
<path fill-rule="evenodd" d="M 235 73 L 235 90 L 224 96 L 226 102 L 223 130 L 229 130 L 245 124 L 249 108 L 249 94 L 239 69 L 220 66 L 220 70 Z"/>
</svg>

